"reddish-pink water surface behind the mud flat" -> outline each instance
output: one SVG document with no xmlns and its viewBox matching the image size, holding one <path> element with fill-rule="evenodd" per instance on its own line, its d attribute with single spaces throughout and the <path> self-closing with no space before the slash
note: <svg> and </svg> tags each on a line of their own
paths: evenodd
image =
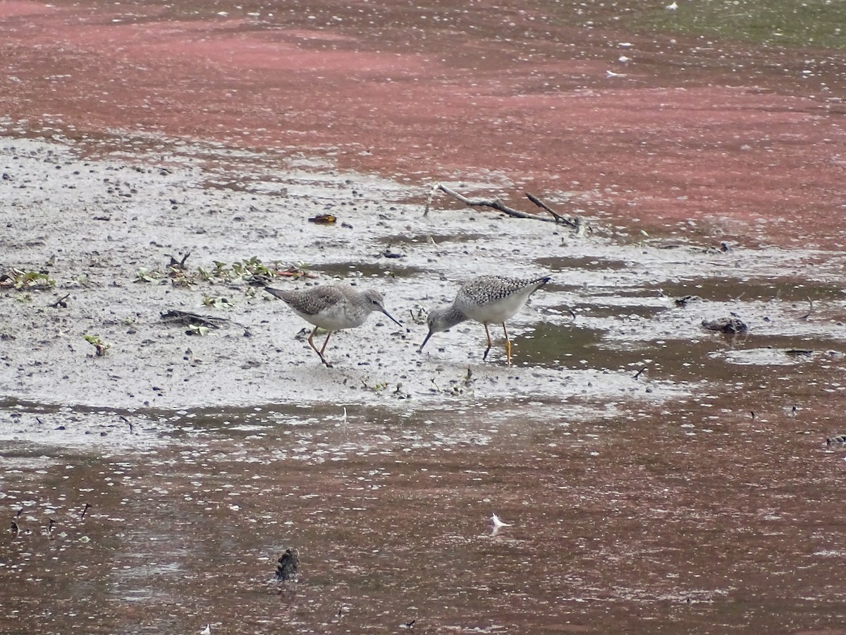
<svg viewBox="0 0 846 635">
<path fill-rule="evenodd" d="M 580 11 L 0 2 L 0 106 L 81 138 L 326 152 L 413 182 L 487 176 L 515 200 L 569 192 L 656 227 L 843 244 L 842 55 L 637 35 L 602 8 L 568 26 Z"/>
</svg>

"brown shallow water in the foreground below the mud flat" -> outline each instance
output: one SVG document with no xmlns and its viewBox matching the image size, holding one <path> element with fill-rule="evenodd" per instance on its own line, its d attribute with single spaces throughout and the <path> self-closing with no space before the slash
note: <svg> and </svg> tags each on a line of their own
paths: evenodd
<svg viewBox="0 0 846 635">
<path fill-rule="evenodd" d="M 4 538 L 17 598 L 4 629 L 833 625 L 827 483 L 843 452 L 807 428 L 821 413 L 752 419 L 721 401 L 606 404 L 592 421 L 563 405 L 448 422 L 201 414 L 134 458 L 54 450 L 46 466 L 22 453 L 3 502 L 24 506 L 33 533 Z M 496 535 L 492 511 L 511 523 Z M 300 581 L 271 583 L 287 546 Z"/>
</svg>

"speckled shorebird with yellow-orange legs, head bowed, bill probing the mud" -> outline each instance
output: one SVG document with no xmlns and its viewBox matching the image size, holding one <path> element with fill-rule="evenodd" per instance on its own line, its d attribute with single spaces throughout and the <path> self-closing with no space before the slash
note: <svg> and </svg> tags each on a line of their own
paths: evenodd
<svg viewBox="0 0 846 635">
<path fill-rule="evenodd" d="M 481 276 L 465 283 L 450 306 L 433 309 L 429 313 L 427 323 L 429 334 L 420 345 L 420 351 L 433 334 L 452 329 L 456 324 L 466 320 L 481 322 L 487 335 L 487 348 L 482 359 L 487 358 L 493 343 L 489 323 L 502 324 L 505 333 L 505 357 L 511 363 L 511 340 L 508 339 L 508 329 L 505 321 L 518 312 L 536 290 L 540 289 L 551 278 L 519 279 L 505 276 Z"/>
</svg>

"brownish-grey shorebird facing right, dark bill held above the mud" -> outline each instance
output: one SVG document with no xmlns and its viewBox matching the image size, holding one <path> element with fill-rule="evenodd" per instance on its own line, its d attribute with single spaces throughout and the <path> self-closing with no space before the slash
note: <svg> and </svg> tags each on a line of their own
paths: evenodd
<svg viewBox="0 0 846 635">
<path fill-rule="evenodd" d="M 402 326 L 385 309 L 382 294 L 372 289 L 356 291 L 349 284 L 331 284 L 306 290 L 288 291 L 271 287 L 265 287 L 265 290 L 283 300 L 306 322 L 315 325 L 309 335 L 309 344 L 320 356 L 321 362 L 329 368 L 332 364 L 326 361 L 323 351 L 326 351 L 329 338 L 335 331 L 361 326 L 373 311 L 384 313 Z M 318 328 L 327 329 L 329 332 L 319 351 L 313 340 Z"/>
</svg>

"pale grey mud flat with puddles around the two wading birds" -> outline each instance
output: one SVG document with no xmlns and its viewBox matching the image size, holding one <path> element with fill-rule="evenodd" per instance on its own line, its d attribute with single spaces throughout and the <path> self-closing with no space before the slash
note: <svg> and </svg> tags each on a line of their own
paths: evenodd
<svg viewBox="0 0 846 635">
<path fill-rule="evenodd" d="M 272 182 L 267 174 L 243 174 L 253 185 L 210 188 L 209 175 L 191 163 L 186 155 L 167 163 L 83 160 L 35 141 L 3 146 L 3 267 L 44 271 L 55 281 L 47 290 L 0 295 L 0 383 L 8 396 L 120 411 L 275 403 L 414 411 L 452 407 L 444 402 L 453 400 L 560 404 L 587 392 L 594 400 L 661 402 L 709 388 L 662 377 L 661 362 L 648 361 L 650 350 L 705 342 L 725 362 L 736 357 L 732 345 L 701 329 L 704 318 L 736 313 L 753 342 L 780 337 L 801 347 L 813 339 L 819 348 L 825 340 L 825 348 L 838 350 L 846 337 L 843 257 L 833 254 L 743 246 L 722 252 L 716 240 L 677 240 L 667 248 L 596 219 L 588 219 L 596 230 L 580 237 L 563 226 L 437 199 L 424 217 L 425 192 L 331 169 L 298 166 Z M 338 223 L 308 222 L 320 213 Z M 168 275 L 170 257 L 189 252 L 193 279 Z M 327 349 L 335 367 L 322 367 L 303 339 L 307 325 L 261 290 L 261 280 L 197 275 L 198 268 L 213 272 L 215 262 L 251 258 L 277 269 L 299 264 L 305 276 L 272 280 L 285 288 L 343 279 L 381 290 L 409 332 L 375 314 L 364 327 L 336 334 Z M 509 323 L 515 366 L 504 365 L 496 329 L 497 346 L 481 361 L 484 331 L 475 323 L 437 334 L 418 353 L 426 309 L 487 273 L 552 274 L 552 284 Z M 50 306 L 68 294 L 68 306 Z M 675 306 L 685 294 L 701 300 Z M 231 322 L 190 334 L 162 322 L 172 309 Z M 536 331 L 544 352 L 532 340 Z M 85 334 L 108 345 L 104 356 Z M 585 349 L 607 351 L 610 359 L 600 367 L 585 363 Z M 643 365 L 648 378 L 633 379 Z"/>
</svg>

